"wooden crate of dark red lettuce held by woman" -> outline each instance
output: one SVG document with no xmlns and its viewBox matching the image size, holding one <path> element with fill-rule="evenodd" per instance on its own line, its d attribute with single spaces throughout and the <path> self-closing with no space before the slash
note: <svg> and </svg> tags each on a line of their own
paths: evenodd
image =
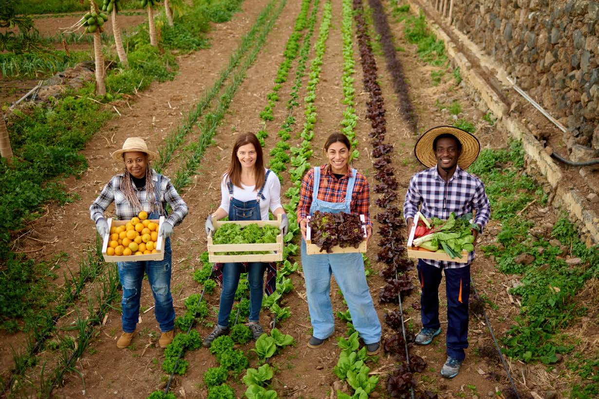
<svg viewBox="0 0 599 399">
<path fill-rule="evenodd" d="M 306 230 L 308 255 L 366 252 L 366 222 L 364 215 L 316 211 L 308 217 Z"/>
</svg>

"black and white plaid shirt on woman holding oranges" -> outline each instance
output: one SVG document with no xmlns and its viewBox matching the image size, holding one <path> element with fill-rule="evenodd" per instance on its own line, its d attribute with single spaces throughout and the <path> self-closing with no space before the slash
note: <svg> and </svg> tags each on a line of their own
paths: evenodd
<svg viewBox="0 0 599 399">
<path fill-rule="evenodd" d="M 177 190 L 175 190 L 175 187 L 171 184 L 171 181 L 167 176 L 160 175 L 160 182 L 158 182 L 158 177 L 159 175 L 156 173 L 156 170 L 152 169 L 152 180 L 154 181 L 154 186 L 159 188 L 158 198 L 161 205 L 162 203 L 167 202 L 173 209 L 165 221 L 172 226 L 177 226 L 177 224 L 181 223 L 183 218 L 187 215 L 187 204 L 181 199 L 179 193 L 177 193 Z M 114 202 L 114 209 L 118 220 L 131 219 L 137 216 L 141 211 L 140 209 L 134 208 L 125 198 L 125 194 L 120 191 L 120 183 L 122 180 L 123 173 L 113 176 L 108 184 L 104 186 L 98 198 L 96 198 L 89 207 L 90 217 L 94 222 L 98 221 L 99 218 L 104 217 L 104 211 L 112 202 Z M 131 185 L 137 194 L 137 197 L 140 199 L 143 210 L 149 212 L 150 204 L 146 196 L 146 187 L 137 189 L 133 182 L 131 182 Z"/>
</svg>

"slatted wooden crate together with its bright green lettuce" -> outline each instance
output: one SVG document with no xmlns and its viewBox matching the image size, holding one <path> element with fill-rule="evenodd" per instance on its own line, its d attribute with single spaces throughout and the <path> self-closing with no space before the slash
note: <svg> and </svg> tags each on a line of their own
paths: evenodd
<svg viewBox="0 0 599 399">
<path fill-rule="evenodd" d="M 210 262 L 273 262 L 283 260 L 281 218 L 259 221 L 213 221 L 208 234 Z"/>
</svg>

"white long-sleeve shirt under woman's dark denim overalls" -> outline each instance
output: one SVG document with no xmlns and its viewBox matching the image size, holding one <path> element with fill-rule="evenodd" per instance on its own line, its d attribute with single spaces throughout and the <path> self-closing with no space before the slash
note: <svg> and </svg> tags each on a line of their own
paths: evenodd
<svg viewBox="0 0 599 399">
<path fill-rule="evenodd" d="M 222 181 L 220 182 L 220 207 L 227 214 L 229 214 L 229 204 L 231 203 L 229 197 L 229 188 L 227 187 L 227 181 L 229 176 L 225 174 Z M 244 185 L 241 187 L 233 185 L 233 198 L 242 202 L 258 199 L 258 190 L 254 185 Z M 268 179 L 264 186 L 262 195 L 265 200 L 260 199 L 260 217 L 262 220 L 268 220 L 268 209 L 274 212 L 275 209 L 281 208 L 281 182 L 274 172 L 268 173 Z"/>
</svg>

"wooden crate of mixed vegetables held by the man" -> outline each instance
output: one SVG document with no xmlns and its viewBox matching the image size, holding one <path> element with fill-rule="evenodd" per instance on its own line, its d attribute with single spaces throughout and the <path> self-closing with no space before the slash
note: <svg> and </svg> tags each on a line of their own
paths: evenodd
<svg viewBox="0 0 599 399">
<path fill-rule="evenodd" d="M 452 212 L 447 220 L 426 219 L 418 212 L 408 237 L 408 257 L 467 263 L 468 252 L 474 251 L 472 229 L 479 229 L 471 218 L 472 214 L 456 218 Z"/>
</svg>

